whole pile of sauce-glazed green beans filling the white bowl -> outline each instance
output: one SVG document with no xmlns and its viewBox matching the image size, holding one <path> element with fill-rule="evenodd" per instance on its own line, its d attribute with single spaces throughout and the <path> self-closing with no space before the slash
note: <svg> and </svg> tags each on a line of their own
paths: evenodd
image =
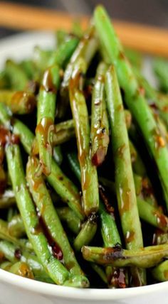
<svg viewBox="0 0 168 304">
<path fill-rule="evenodd" d="M 103 6 L 0 72 L 0 268 L 78 288 L 168 281 L 168 63 Z"/>
</svg>

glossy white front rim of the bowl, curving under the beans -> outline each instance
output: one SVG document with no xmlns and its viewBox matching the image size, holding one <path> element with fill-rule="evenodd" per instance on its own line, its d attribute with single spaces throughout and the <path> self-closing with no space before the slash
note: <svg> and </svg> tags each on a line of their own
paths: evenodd
<svg viewBox="0 0 168 304">
<path fill-rule="evenodd" d="M 57 286 L 50 283 L 44 283 L 23 278 L 14 273 L 9 273 L 0 269 L 0 282 L 9 283 L 11 286 L 22 288 L 25 291 L 41 293 L 42 295 L 51 295 L 56 298 L 78 299 L 78 300 L 122 300 L 134 298 L 138 295 L 154 294 L 159 291 L 165 291 L 168 288 L 168 282 L 155 283 L 148 286 L 133 287 L 125 289 L 107 289 L 107 288 L 87 288 L 80 289 L 74 287 Z"/>
</svg>

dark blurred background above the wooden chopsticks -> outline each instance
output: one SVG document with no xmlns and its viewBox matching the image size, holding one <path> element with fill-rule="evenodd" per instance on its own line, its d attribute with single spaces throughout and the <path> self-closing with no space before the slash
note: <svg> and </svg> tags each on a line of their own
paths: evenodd
<svg viewBox="0 0 168 304">
<path fill-rule="evenodd" d="M 68 13 L 91 14 L 96 4 L 105 5 L 112 18 L 168 28 L 168 0 L 13 0 L 6 1 Z M 30 16 L 31 18 L 31 16 Z M 16 33 L 0 27 L 0 38 Z"/>
</svg>

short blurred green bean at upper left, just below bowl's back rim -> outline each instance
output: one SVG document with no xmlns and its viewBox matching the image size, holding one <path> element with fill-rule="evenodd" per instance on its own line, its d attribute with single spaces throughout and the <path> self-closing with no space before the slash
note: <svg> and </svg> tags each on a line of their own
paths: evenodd
<svg viewBox="0 0 168 304">
<path fill-rule="evenodd" d="M 28 77 L 23 69 L 14 61 L 7 60 L 5 65 L 6 76 L 9 78 L 10 87 L 16 91 L 26 88 Z"/>
</svg>

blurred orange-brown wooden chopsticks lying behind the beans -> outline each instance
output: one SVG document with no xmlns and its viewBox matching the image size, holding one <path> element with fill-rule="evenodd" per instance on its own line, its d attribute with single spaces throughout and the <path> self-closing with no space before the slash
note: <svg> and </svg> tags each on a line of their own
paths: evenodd
<svg viewBox="0 0 168 304">
<path fill-rule="evenodd" d="M 81 21 L 83 28 L 87 26 L 89 20 L 87 16 L 70 16 L 67 13 L 49 9 L 0 2 L 0 26 L 8 28 L 70 30 L 76 18 Z M 124 21 L 115 20 L 113 23 L 122 43 L 128 48 L 168 58 L 168 30 Z"/>
</svg>

